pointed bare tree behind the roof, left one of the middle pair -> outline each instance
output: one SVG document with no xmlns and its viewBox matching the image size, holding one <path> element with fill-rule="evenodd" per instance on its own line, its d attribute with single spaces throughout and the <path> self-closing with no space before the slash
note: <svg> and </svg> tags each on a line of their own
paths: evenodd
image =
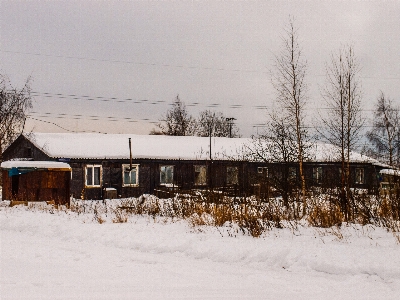
<svg viewBox="0 0 400 300">
<path fill-rule="evenodd" d="M 186 105 L 179 99 L 179 95 L 176 96 L 172 108 L 160 121 L 158 127 L 165 135 L 193 135 L 193 117 L 189 115 Z"/>
</svg>

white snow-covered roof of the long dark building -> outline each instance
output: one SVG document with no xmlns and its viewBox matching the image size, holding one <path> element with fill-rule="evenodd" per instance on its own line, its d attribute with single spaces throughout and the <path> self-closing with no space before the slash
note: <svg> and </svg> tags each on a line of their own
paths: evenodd
<svg viewBox="0 0 400 300">
<path fill-rule="evenodd" d="M 24 136 L 52 158 L 129 159 L 129 138 L 132 157 L 136 159 L 206 160 L 210 157 L 209 137 L 98 133 L 33 133 Z M 257 160 L 254 155 L 249 155 L 255 145 L 251 138 L 213 137 L 212 158 Z M 333 145 L 313 144 L 308 160 L 338 161 L 337 150 Z M 382 165 L 357 152 L 351 152 L 350 160 Z"/>
</svg>

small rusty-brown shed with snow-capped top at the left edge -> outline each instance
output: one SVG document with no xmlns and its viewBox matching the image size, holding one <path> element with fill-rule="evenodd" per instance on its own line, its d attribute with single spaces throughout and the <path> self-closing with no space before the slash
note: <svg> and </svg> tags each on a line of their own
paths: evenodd
<svg viewBox="0 0 400 300">
<path fill-rule="evenodd" d="M 1 163 L 3 200 L 54 201 L 69 205 L 71 167 L 56 161 L 5 161 Z"/>
</svg>

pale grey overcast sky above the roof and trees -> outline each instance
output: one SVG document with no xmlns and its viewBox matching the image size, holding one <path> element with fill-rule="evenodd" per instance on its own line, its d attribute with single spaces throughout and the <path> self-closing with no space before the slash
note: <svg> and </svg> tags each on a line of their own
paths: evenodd
<svg viewBox="0 0 400 300">
<path fill-rule="evenodd" d="M 257 134 L 270 73 L 294 18 L 307 61 L 308 122 L 326 107 L 332 53 L 352 45 L 363 113 L 400 104 L 400 1 L 0 1 L 0 73 L 31 77 L 25 131 L 148 134 L 174 99 Z"/>
</svg>

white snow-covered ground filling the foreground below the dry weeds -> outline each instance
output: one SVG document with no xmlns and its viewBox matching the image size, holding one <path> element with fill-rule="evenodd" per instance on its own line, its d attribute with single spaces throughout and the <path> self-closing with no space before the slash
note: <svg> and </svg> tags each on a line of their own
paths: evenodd
<svg viewBox="0 0 400 300">
<path fill-rule="evenodd" d="M 400 299 L 400 245 L 372 226 L 191 227 L 0 202 L 1 299 Z"/>
</svg>

